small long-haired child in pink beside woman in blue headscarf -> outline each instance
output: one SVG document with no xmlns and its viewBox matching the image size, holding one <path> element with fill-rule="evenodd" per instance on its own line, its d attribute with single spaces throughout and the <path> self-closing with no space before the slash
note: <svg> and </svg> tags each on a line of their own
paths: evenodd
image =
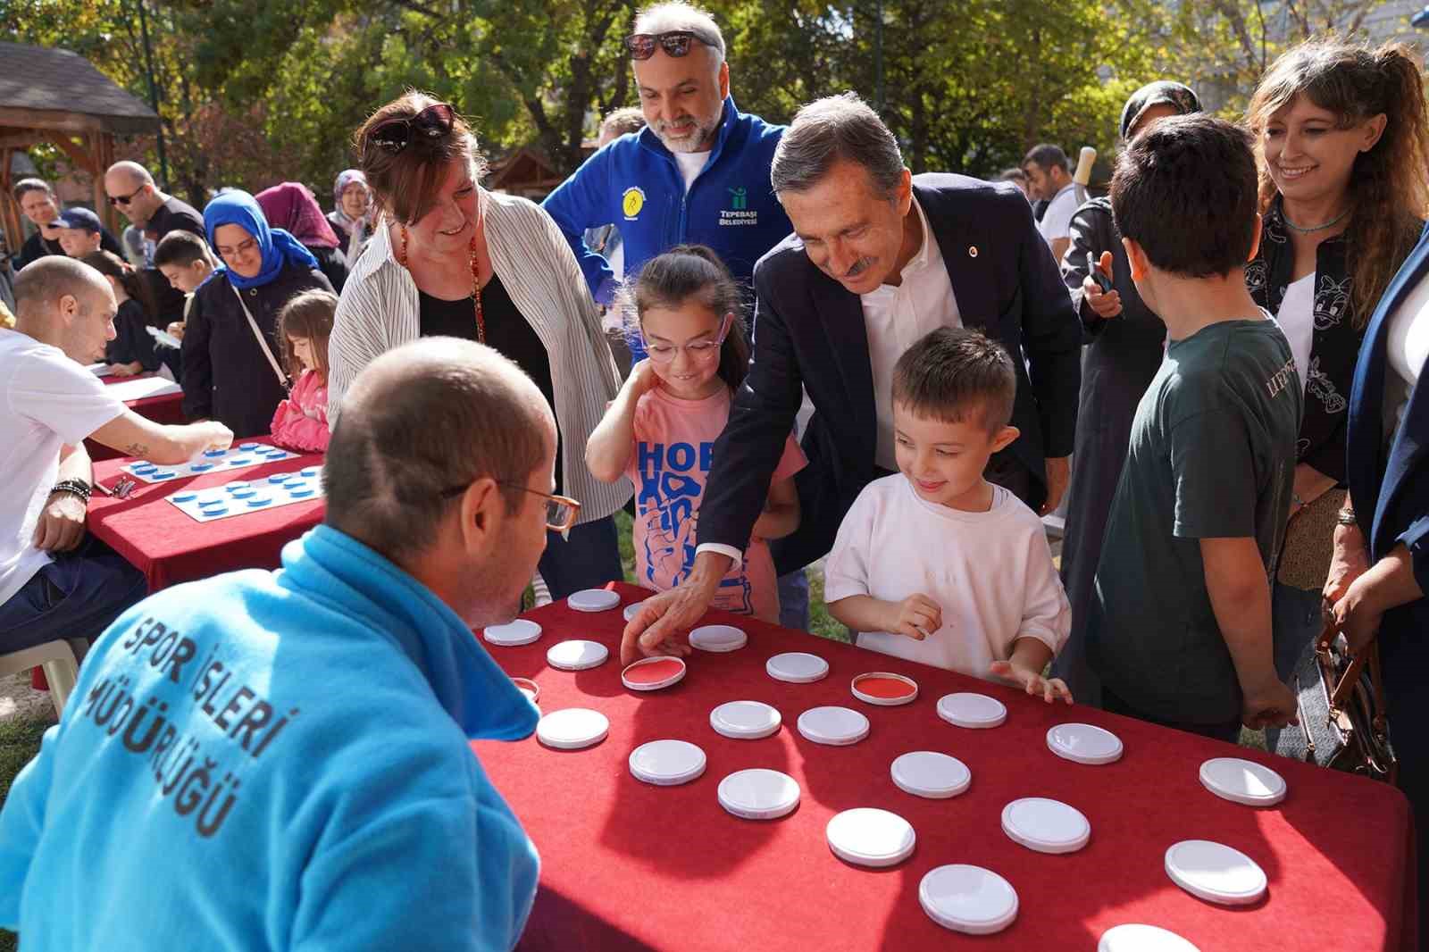
<svg viewBox="0 0 1429 952">
<path fill-rule="evenodd" d="M 283 366 L 294 380 L 273 413 L 273 442 L 292 450 L 327 452 L 327 339 L 337 296 L 310 290 L 294 294 L 277 316 Z"/>
</svg>

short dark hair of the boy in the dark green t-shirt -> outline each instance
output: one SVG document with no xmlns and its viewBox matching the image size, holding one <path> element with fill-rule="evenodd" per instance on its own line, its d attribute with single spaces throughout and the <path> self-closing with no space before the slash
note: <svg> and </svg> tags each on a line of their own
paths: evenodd
<svg viewBox="0 0 1429 952">
<path fill-rule="evenodd" d="M 1112 217 L 1157 269 L 1219 277 L 1250 259 L 1258 184 L 1248 132 L 1205 113 L 1169 116 L 1116 157 Z"/>
</svg>

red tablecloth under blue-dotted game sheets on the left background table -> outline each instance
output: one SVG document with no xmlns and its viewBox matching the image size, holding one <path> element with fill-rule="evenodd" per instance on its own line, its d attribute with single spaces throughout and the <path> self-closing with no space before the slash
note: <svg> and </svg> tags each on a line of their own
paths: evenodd
<svg viewBox="0 0 1429 952">
<path fill-rule="evenodd" d="M 257 437 L 252 442 L 270 440 Z M 117 459 L 99 463 L 94 466 L 94 477 L 113 486 L 119 467 L 127 462 Z M 203 489 L 236 479 L 260 482 L 273 473 L 287 473 L 322 462 L 322 455 L 310 453 L 240 470 L 139 483 L 127 499 L 96 492 L 90 497 L 89 529 L 144 573 L 150 592 L 234 569 L 276 569 L 283 546 L 322 522 L 323 500 L 200 523 L 164 502 L 164 497 L 183 486 Z"/>
</svg>

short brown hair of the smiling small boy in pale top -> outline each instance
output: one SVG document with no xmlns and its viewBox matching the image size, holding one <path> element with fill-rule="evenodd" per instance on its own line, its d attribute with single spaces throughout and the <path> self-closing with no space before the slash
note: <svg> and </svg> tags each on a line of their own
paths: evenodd
<svg viewBox="0 0 1429 952">
<path fill-rule="evenodd" d="M 996 340 L 966 327 L 939 327 L 893 366 L 893 403 L 945 423 L 996 433 L 1012 420 L 1017 373 Z"/>
</svg>

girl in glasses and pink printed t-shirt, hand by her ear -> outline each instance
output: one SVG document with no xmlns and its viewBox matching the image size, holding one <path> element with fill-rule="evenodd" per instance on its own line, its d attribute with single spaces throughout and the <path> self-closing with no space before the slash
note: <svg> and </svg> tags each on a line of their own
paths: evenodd
<svg viewBox="0 0 1429 952">
<path fill-rule="evenodd" d="M 664 592 L 694 565 L 714 440 L 749 363 L 743 302 L 714 252 L 682 244 L 647 262 L 617 306 L 636 314 L 649 356 L 630 370 L 592 432 L 586 465 L 602 482 L 629 476 L 634 483 L 636 580 Z M 766 540 L 799 527 L 793 475 L 806 463 L 790 435 L 745 559 L 720 582 L 714 608 L 779 622 L 775 560 Z"/>
</svg>

